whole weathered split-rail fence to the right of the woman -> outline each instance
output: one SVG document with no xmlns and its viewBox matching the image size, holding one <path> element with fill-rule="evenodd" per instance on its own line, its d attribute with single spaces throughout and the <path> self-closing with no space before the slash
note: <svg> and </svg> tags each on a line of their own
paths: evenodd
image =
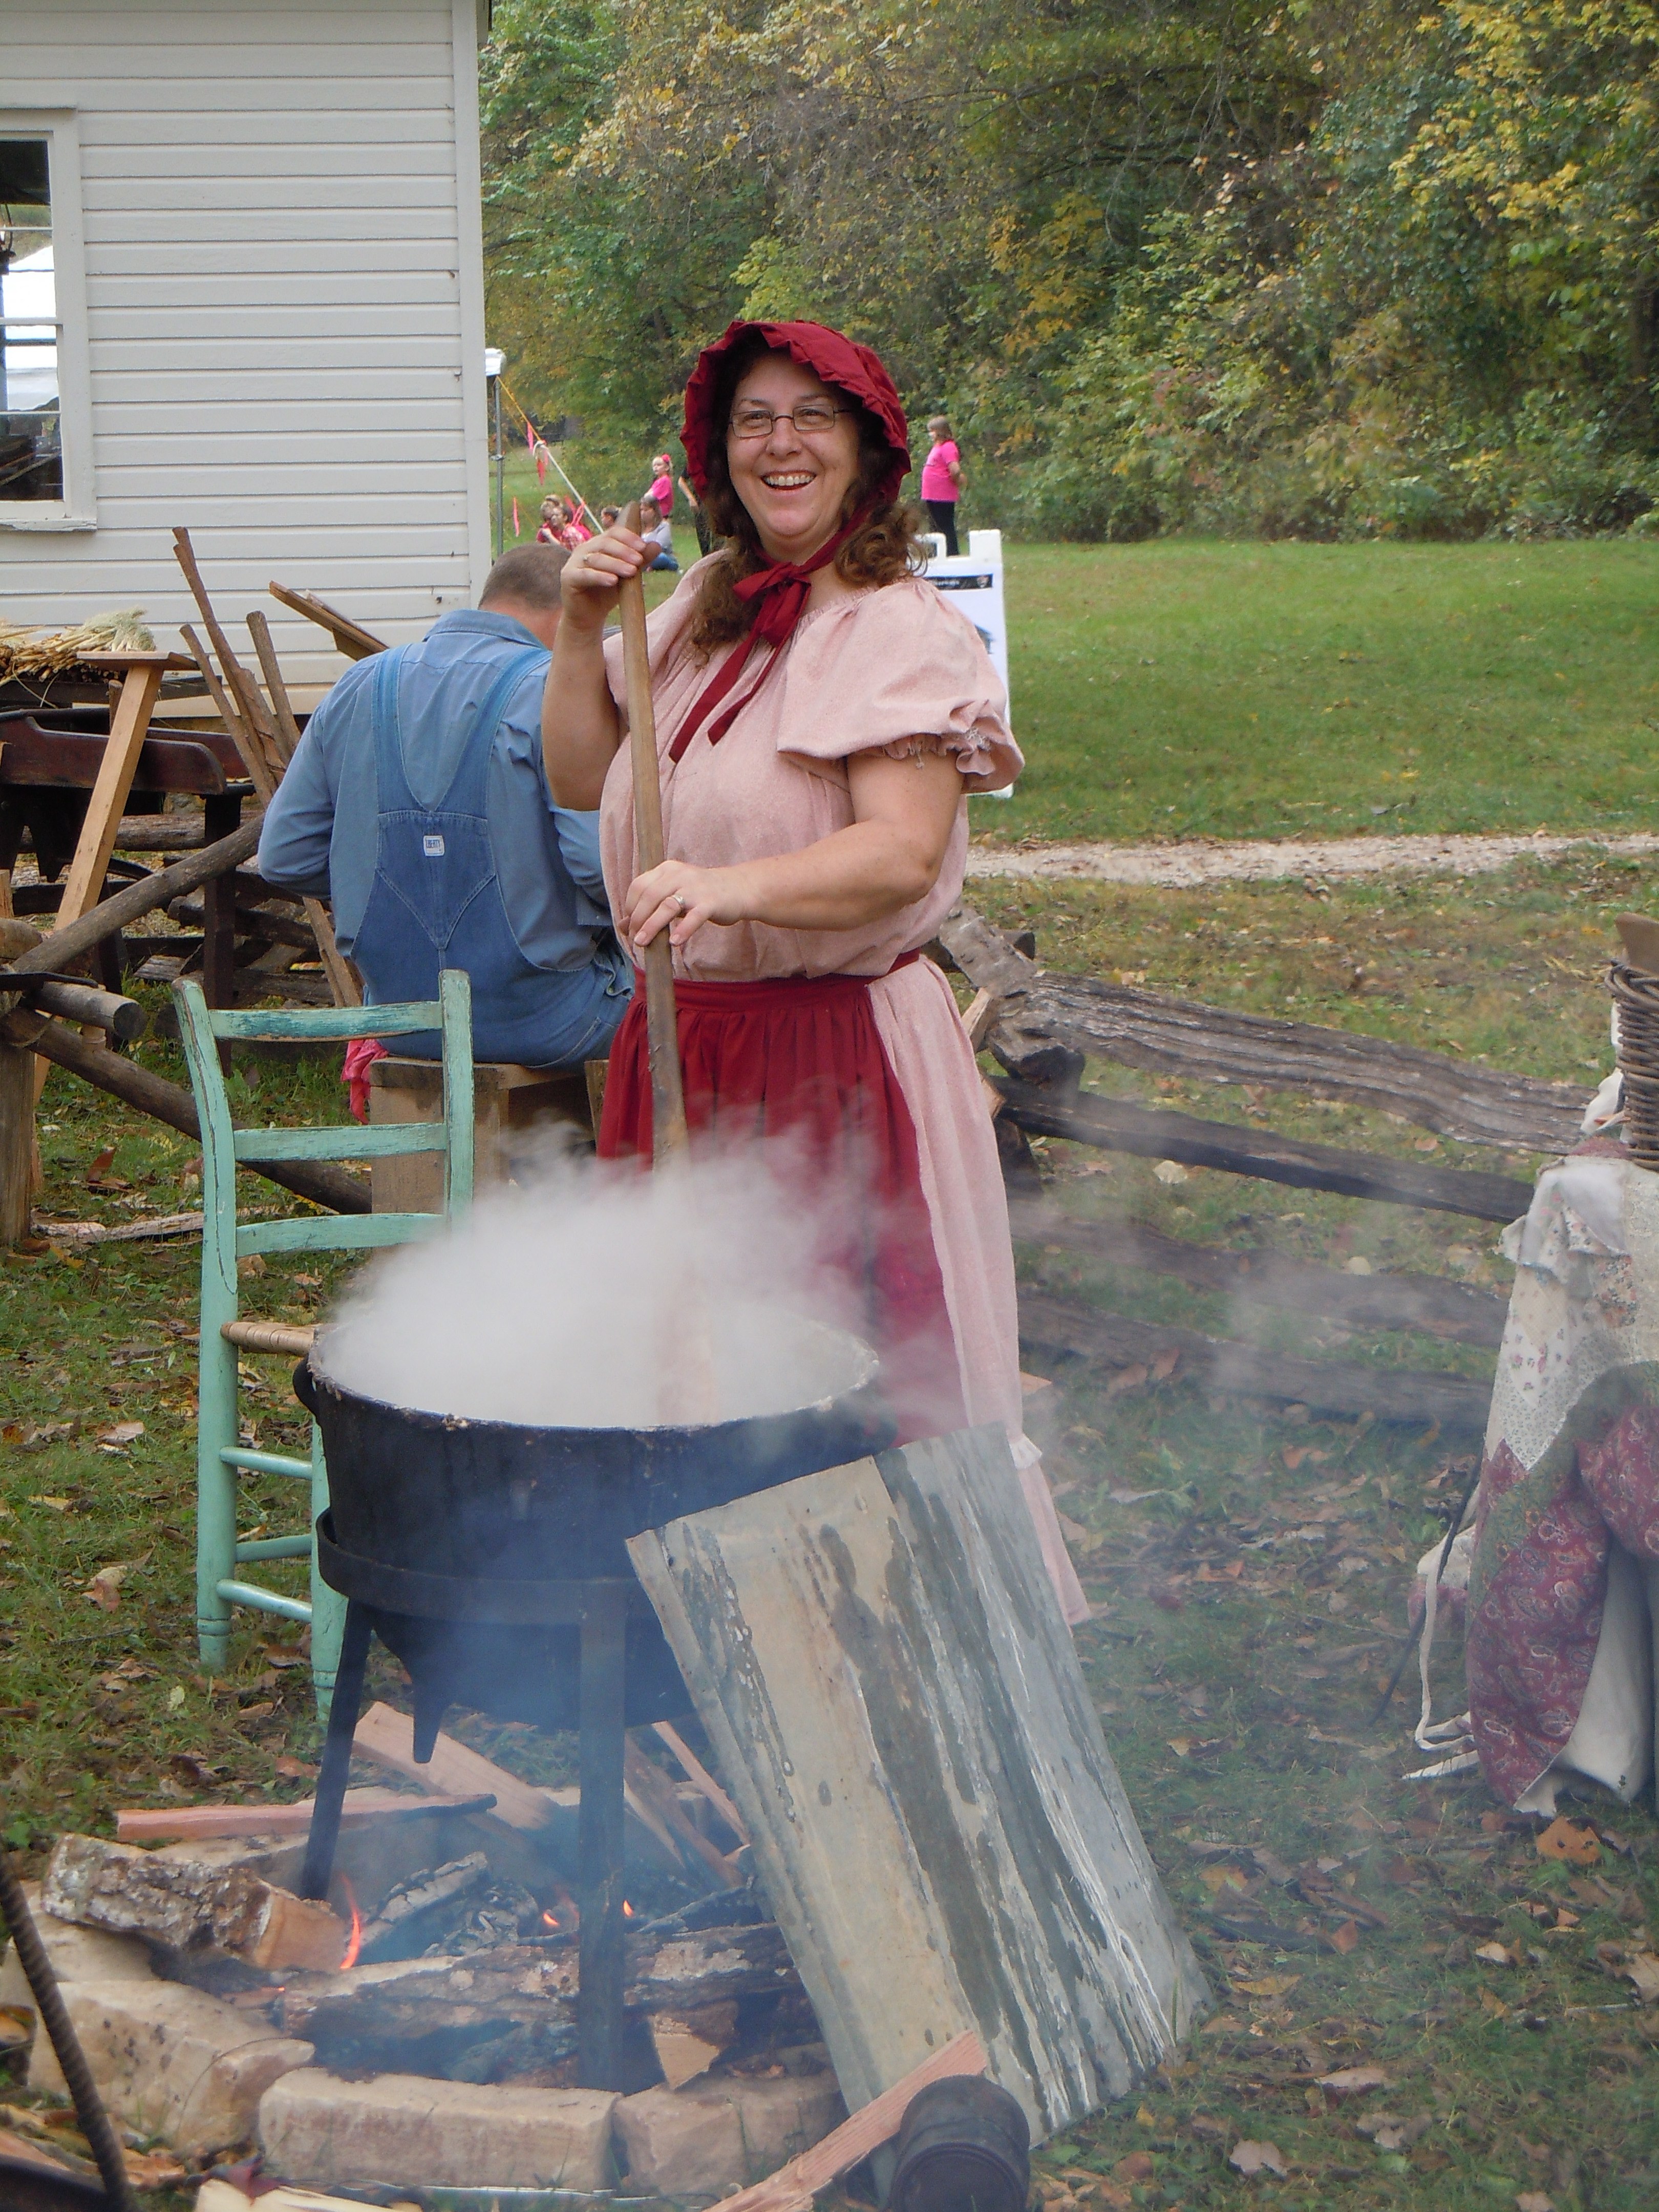
<svg viewBox="0 0 1659 2212">
<path fill-rule="evenodd" d="M 1378 1106 L 1464 1144 L 1506 1150 L 1566 1152 L 1579 1137 L 1586 1093 L 1571 1084 L 1478 1068 L 1444 1053 L 1310 1022 L 1232 1013 L 1168 991 L 1048 973 L 971 907 L 949 916 L 933 951 L 984 993 L 978 1035 L 1009 1071 L 993 1086 L 998 1117 L 1024 1135 L 1478 1221 L 1513 1221 L 1526 1212 L 1531 1183 L 1099 1097 L 1079 1088 L 1084 1064 L 1093 1055 L 1199 1082 L 1336 1097 Z M 1011 1197 L 1013 1234 L 1026 1248 L 1060 1248 L 1113 1267 L 1170 1274 L 1250 1307 L 1290 1307 L 1347 1327 L 1409 1329 L 1482 1347 L 1502 1340 L 1504 1301 L 1442 1276 L 1354 1276 L 1272 1250 L 1223 1252 L 1164 1237 L 1139 1221 L 1084 1221 L 1020 1192 Z M 1482 1427 L 1491 1396 L 1486 1383 L 1464 1376 L 1285 1358 L 1199 1329 L 1106 1314 L 1044 1290 L 1022 1290 L 1020 1336 L 1040 1352 L 1119 1369 L 1150 1369 L 1175 1352 L 1183 1374 L 1217 1391 L 1287 1398 L 1327 1413 L 1438 1420 L 1449 1429 Z"/>
</svg>

